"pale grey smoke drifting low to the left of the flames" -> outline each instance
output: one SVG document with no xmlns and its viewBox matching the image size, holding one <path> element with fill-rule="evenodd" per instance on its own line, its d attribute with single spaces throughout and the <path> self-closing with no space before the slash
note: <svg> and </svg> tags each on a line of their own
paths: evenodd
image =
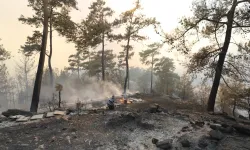
<svg viewBox="0 0 250 150">
<path fill-rule="evenodd" d="M 66 79 L 58 79 L 56 84 L 61 84 L 63 90 L 61 92 L 61 98 L 63 102 L 67 104 L 75 104 L 77 101 L 84 103 L 107 100 L 112 95 L 121 95 L 121 86 L 112 82 L 102 82 L 95 77 L 84 77 L 84 79 L 78 79 L 75 76 L 67 77 Z M 58 92 L 51 89 L 49 86 L 42 86 L 41 88 L 41 100 L 52 99 L 52 92 L 57 94 Z"/>
</svg>

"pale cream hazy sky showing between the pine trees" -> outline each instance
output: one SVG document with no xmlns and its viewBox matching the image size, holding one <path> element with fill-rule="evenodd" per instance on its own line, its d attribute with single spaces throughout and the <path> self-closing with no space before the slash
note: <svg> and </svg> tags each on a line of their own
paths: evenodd
<svg viewBox="0 0 250 150">
<path fill-rule="evenodd" d="M 71 17 L 74 21 L 80 22 L 88 14 L 88 7 L 93 0 L 78 0 L 79 10 L 71 12 Z M 107 6 L 111 7 L 115 12 L 115 16 L 118 16 L 121 12 L 124 12 L 133 7 L 135 0 L 106 0 Z M 141 0 L 142 7 L 144 8 L 142 13 L 148 17 L 156 17 L 157 21 L 161 23 L 164 31 L 169 32 L 178 25 L 179 19 L 190 14 L 190 8 L 192 0 Z M 3 44 L 6 50 L 11 52 L 12 58 L 6 62 L 10 74 L 15 73 L 15 64 L 20 60 L 20 54 L 18 51 L 20 46 L 26 41 L 26 37 L 32 35 L 32 31 L 35 28 L 29 25 L 22 24 L 18 21 L 21 15 L 32 16 L 31 8 L 27 7 L 27 0 L 0 0 L 0 44 Z M 145 67 L 141 65 L 138 53 L 146 48 L 147 44 L 161 40 L 161 38 L 154 33 L 152 29 L 145 29 L 143 34 L 149 37 L 149 40 L 135 44 L 135 56 L 130 60 L 130 66 Z M 57 34 L 53 36 L 53 58 L 52 66 L 55 68 L 63 69 L 68 66 L 68 56 L 74 54 L 75 47 L 72 43 L 67 43 L 65 38 L 60 37 Z M 115 53 L 122 50 L 120 44 L 107 44 L 107 48 L 112 48 Z M 169 53 L 167 48 L 163 48 L 162 55 L 183 60 L 177 52 Z M 38 59 L 38 57 L 36 57 Z M 35 62 L 37 63 L 37 61 Z M 176 63 L 176 72 L 181 73 L 183 67 Z M 47 60 L 45 62 L 47 66 Z"/>
</svg>

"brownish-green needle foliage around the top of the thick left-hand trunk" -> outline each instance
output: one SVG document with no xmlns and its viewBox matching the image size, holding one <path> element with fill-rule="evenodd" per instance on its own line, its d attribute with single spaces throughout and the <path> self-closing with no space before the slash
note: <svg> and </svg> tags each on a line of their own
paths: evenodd
<svg viewBox="0 0 250 150">
<path fill-rule="evenodd" d="M 18 20 L 23 24 L 35 26 L 36 28 L 42 27 L 44 18 L 43 1 L 28 0 L 28 2 L 28 7 L 33 9 L 34 14 L 31 17 L 25 17 L 21 15 Z M 76 0 L 53 0 L 49 2 L 49 22 L 52 22 L 53 28 L 58 30 L 59 34 L 62 34 L 62 28 L 65 29 L 64 27 L 67 27 L 67 29 L 72 28 L 69 11 L 72 8 L 77 9 L 76 5 Z M 34 52 L 40 51 L 41 38 L 42 33 L 40 31 L 34 31 L 32 36 L 27 37 L 27 41 L 24 46 L 21 46 L 21 51 L 25 51 L 27 55 L 32 55 Z"/>
</svg>

